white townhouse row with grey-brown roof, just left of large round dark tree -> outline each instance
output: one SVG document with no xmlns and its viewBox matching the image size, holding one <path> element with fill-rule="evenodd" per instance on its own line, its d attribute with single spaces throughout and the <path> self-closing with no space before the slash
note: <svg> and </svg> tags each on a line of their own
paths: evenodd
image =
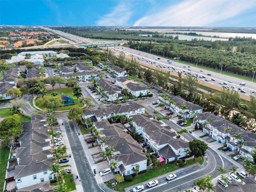
<svg viewBox="0 0 256 192">
<path fill-rule="evenodd" d="M 189 151 L 188 141 L 177 134 L 170 126 L 153 119 L 151 115 L 132 116 L 135 133 L 141 135 L 150 148 L 165 159 L 166 163 L 182 158 Z"/>
</svg>

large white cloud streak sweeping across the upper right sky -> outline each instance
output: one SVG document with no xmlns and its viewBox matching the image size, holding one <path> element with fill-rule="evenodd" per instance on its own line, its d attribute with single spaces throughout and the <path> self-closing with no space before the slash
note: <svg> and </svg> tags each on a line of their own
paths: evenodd
<svg viewBox="0 0 256 192">
<path fill-rule="evenodd" d="M 134 26 L 209 26 L 255 7 L 254 0 L 186 0 L 160 8 L 137 20 Z"/>
</svg>

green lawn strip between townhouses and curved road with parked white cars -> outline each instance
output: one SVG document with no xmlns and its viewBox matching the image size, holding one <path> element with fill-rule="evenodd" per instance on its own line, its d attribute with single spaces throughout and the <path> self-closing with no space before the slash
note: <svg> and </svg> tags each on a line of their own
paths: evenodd
<svg viewBox="0 0 256 192">
<path fill-rule="evenodd" d="M 186 166 L 189 166 L 189 165 L 192 165 L 196 162 L 202 164 L 204 161 L 204 159 L 202 157 L 199 157 L 199 158 L 196 158 L 196 160 L 194 160 L 194 158 L 190 159 L 190 160 L 187 160 L 187 164 L 183 167 L 186 167 Z M 118 183 L 115 187 L 112 187 L 111 184 L 108 182 L 107 186 L 109 188 L 114 188 L 114 190 L 117 190 L 117 191 L 120 191 L 120 188 L 121 191 L 125 191 L 124 189 L 127 188 L 127 187 L 130 187 L 132 185 L 136 185 L 140 182 L 145 182 L 147 180 L 150 180 L 150 179 L 153 179 L 155 177 L 158 177 L 158 176 L 161 176 L 163 174 L 166 174 L 168 172 L 172 172 L 174 170 L 178 170 L 182 167 L 177 167 L 176 165 L 174 165 L 174 163 L 172 164 L 166 164 L 166 165 L 163 165 L 157 169 L 151 169 L 151 170 L 148 170 L 147 172 L 145 173 L 142 173 L 140 175 L 137 175 L 133 178 L 133 180 L 131 182 L 122 182 L 122 183 Z"/>
</svg>

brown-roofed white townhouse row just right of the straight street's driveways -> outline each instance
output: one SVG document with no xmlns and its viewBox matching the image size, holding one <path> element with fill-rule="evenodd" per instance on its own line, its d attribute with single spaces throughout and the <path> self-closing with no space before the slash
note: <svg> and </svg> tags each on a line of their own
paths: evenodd
<svg viewBox="0 0 256 192">
<path fill-rule="evenodd" d="M 133 174 L 133 168 L 139 165 L 138 171 L 147 169 L 147 157 L 143 152 L 143 148 L 130 134 L 128 134 L 122 124 L 110 124 L 108 120 L 96 122 L 97 130 L 102 131 L 100 138 L 106 139 L 106 143 L 101 143 L 102 151 L 105 151 L 109 146 L 114 147 L 114 154 L 108 159 L 118 162 L 117 171 L 122 175 Z M 124 147 L 125 146 L 125 147 Z"/>
</svg>

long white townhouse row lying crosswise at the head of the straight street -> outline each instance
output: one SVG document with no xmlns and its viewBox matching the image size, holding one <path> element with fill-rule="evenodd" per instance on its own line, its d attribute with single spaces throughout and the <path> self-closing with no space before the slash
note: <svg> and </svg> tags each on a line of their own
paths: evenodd
<svg viewBox="0 0 256 192">
<path fill-rule="evenodd" d="M 142 114 L 144 112 L 144 106 L 134 102 L 129 102 L 126 104 L 99 106 L 95 109 L 84 109 L 82 118 L 92 118 L 94 121 L 101 121 L 115 115 L 127 115 L 129 117 L 131 115 Z"/>
</svg>

